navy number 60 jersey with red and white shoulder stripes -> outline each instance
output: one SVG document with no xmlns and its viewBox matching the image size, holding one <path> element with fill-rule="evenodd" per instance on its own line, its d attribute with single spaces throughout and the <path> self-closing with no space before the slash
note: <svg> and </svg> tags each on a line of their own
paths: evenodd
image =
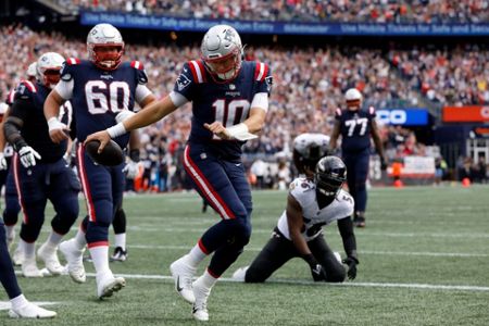
<svg viewBox="0 0 489 326">
<path fill-rule="evenodd" d="M 76 138 L 83 142 L 88 135 L 116 124 L 115 115 L 134 111 L 151 91 L 139 61 L 123 62 L 113 71 L 97 67 L 91 61 L 70 58 L 64 62 L 55 90 L 73 105 Z M 125 148 L 129 134 L 114 139 Z"/>
</svg>

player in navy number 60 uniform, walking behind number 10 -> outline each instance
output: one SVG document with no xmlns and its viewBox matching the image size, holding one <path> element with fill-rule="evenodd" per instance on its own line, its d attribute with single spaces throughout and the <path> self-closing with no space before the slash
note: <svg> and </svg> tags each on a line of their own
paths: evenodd
<svg viewBox="0 0 489 326">
<path fill-rule="evenodd" d="M 98 24 L 88 33 L 89 60 L 70 58 L 65 61 L 61 82 L 45 103 L 45 115 L 52 141 L 67 139 L 66 126 L 58 120 L 59 108 L 71 100 L 75 117 L 77 166 L 88 208 L 87 228 L 60 244 L 68 264 L 68 274 L 76 283 L 85 283 L 83 252 L 87 246 L 97 272 L 98 298 L 111 297 L 126 281 L 114 277 L 109 267 L 109 226 L 124 191 L 124 163 L 116 166 L 96 164 L 85 150 L 84 141 L 92 133 L 104 130 L 134 114 L 135 102 L 142 109 L 154 101 L 148 89 L 148 77 L 139 61 L 123 62 L 124 40 L 110 24 Z M 142 110 L 145 111 L 145 110 Z M 125 148 L 129 135 L 114 139 Z"/>
</svg>

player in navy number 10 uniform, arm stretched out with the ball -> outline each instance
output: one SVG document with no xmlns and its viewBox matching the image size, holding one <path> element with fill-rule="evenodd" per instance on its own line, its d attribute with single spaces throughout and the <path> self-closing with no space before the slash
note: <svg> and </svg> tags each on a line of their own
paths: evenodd
<svg viewBox="0 0 489 326">
<path fill-rule="evenodd" d="M 87 138 L 100 141 L 150 125 L 192 102 L 192 126 L 184 166 L 193 186 L 222 221 L 209 228 L 190 252 L 170 266 L 177 292 L 193 304 L 198 321 L 208 321 L 206 302 L 220 276 L 241 254 L 251 235 L 251 190 L 241 162 L 241 146 L 256 138 L 265 122 L 272 76 L 268 65 L 243 61 L 241 39 L 228 25 L 211 27 L 201 59 L 184 64 L 173 91 L 136 115 Z M 192 284 L 197 266 L 212 255 Z"/>
</svg>

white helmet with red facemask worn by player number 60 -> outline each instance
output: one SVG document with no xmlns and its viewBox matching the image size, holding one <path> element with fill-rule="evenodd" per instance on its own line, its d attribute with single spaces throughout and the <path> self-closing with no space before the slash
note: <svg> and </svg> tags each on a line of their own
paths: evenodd
<svg viewBox="0 0 489 326">
<path fill-rule="evenodd" d="M 116 51 L 100 53 L 102 47 L 116 47 Z M 106 71 L 117 68 L 124 53 L 124 40 L 117 28 L 111 24 L 98 24 L 87 36 L 88 59 L 98 67 Z"/>
</svg>

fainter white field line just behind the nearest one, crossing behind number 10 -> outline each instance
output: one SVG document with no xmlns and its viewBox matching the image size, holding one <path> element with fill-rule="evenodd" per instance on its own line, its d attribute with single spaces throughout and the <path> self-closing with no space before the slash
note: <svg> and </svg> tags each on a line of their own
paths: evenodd
<svg viewBox="0 0 489 326">
<path fill-rule="evenodd" d="M 170 249 L 170 250 L 189 250 L 191 246 L 148 246 L 148 244 L 129 244 L 127 248 L 137 249 Z M 262 248 L 246 247 L 246 251 L 261 251 Z M 487 258 L 488 253 L 465 253 L 465 252 L 425 252 L 425 251 L 375 251 L 361 250 L 360 254 L 389 254 L 389 255 L 424 255 L 424 256 L 467 256 L 467 258 Z"/>
</svg>

